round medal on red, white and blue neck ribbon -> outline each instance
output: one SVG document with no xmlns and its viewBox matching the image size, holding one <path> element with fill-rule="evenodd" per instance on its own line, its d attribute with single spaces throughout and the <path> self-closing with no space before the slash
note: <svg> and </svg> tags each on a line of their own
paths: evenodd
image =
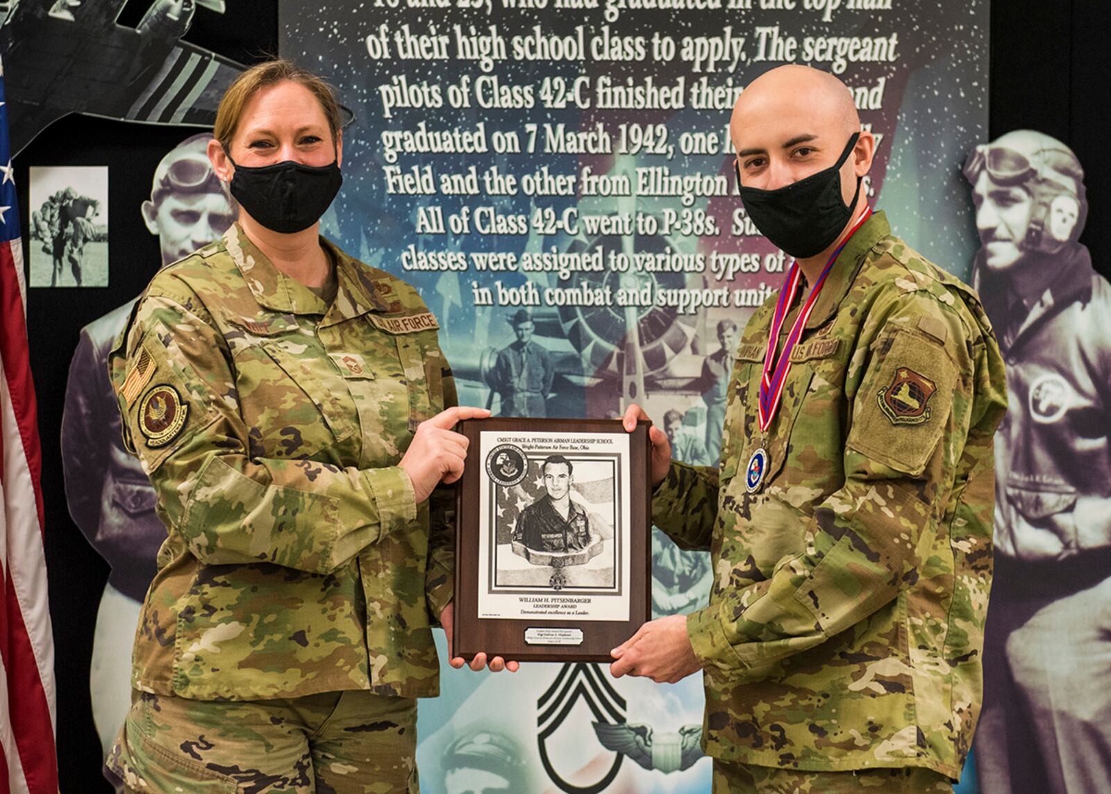
<svg viewBox="0 0 1111 794">
<path fill-rule="evenodd" d="M 779 345 L 779 334 L 783 328 L 783 320 L 787 319 L 787 312 L 791 304 L 794 302 L 794 297 L 798 295 L 799 286 L 802 282 L 802 271 L 799 269 L 799 262 L 795 261 L 792 264 L 791 269 L 787 274 L 787 281 L 783 284 L 783 288 L 779 290 L 779 300 L 775 301 L 775 312 L 772 315 L 771 330 L 768 335 L 768 349 L 764 353 L 763 373 L 760 377 L 760 404 L 757 406 L 757 415 L 760 423 L 761 438 L 767 436 L 768 428 L 771 427 L 771 423 L 779 410 L 779 404 L 783 397 L 783 385 L 787 383 L 788 373 L 791 371 L 791 350 L 794 349 L 799 338 L 802 336 L 802 329 L 807 327 L 807 320 L 810 319 L 810 312 L 814 310 L 814 304 L 818 302 L 818 294 L 822 291 L 825 277 L 833 269 L 833 262 L 837 261 L 838 256 L 844 249 L 845 245 L 857 234 L 857 229 L 863 226 L 871 214 L 872 208 L 865 205 L 860 218 L 853 224 L 844 240 L 841 241 L 841 245 L 830 256 L 829 261 L 825 262 L 825 267 L 822 268 L 821 275 L 814 281 L 810 295 L 807 296 L 807 301 L 802 305 L 799 316 L 794 319 L 794 324 L 787 335 L 782 353 L 777 358 L 775 349 Z M 760 490 L 760 486 L 763 484 L 770 467 L 771 457 L 761 444 L 760 448 L 752 453 L 752 456 L 749 458 L 749 465 L 744 474 L 744 484 L 750 494 Z"/>
</svg>

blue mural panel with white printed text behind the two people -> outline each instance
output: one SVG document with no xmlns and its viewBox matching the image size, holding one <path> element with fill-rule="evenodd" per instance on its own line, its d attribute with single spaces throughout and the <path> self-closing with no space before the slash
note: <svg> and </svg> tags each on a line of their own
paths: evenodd
<svg viewBox="0 0 1111 794">
<path fill-rule="evenodd" d="M 713 460 L 739 329 L 789 264 L 734 195 L 740 88 L 785 62 L 838 75 L 879 138 L 873 206 L 968 278 L 960 167 L 987 132 L 988 4 L 587 4 L 281 2 L 281 54 L 328 76 L 354 116 L 324 234 L 421 290 L 464 403 L 605 417 L 637 400 L 670 424 L 677 457 Z M 655 535 L 655 614 L 698 608 L 705 556 Z M 709 791 L 699 676 L 527 665 L 443 681 L 421 703 L 422 790 L 466 791 L 460 757 L 476 754 L 460 748 L 482 746 L 487 773 L 530 781 L 487 791 Z M 523 768 L 493 761 L 507 737 Z"/>
</svg>

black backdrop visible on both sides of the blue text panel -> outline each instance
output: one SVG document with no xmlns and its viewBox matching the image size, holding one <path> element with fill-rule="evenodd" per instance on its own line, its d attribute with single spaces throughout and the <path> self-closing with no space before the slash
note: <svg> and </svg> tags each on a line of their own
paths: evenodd
<svg viewBox="0 0 1111 794">
<path fill-rule="evenodd" d="M 128 3 L 120 22 L 134 24 L 146 7 Z M 186 38 L 244 63 L 262 60 L 277 52 L 277 0 L 237 0 L 228 3 L 223 17 L 199 11 Z M 1111 11 L 1105 0 L 995 0 L 992 4 L 990 135 L 995 138 L 1012 129 L 1032 128 L 1075 150 L 1087 170 L 1091 206 L 1081 241 L 1089 246 L 1097 269 L 1104 276 L 1111 276 L 1111 157 L 1105 143 L 1111 129 L 1109 40 Z M 108 566 L 72 524 L 61 497 L 58 428 L 66 375 L 81 327 L 136 297 L 154 274 L 160 261 L 158 242 L 143 225 L 139 205 L 149 196 L 158 161 L 192 131 L 71 116 L 47 129 L 16 160 L 24 224 L 30 217 L 26 198 L 29 166 L 109 166 L 109 287 L 31 289 L 28 295 L 47 495 L 58 753 L 61 786 L 68 792 L 109 791 L 100 778 L 100 742 L 90 714 L 88 675 Z M 944 130 L 938 133 L 944 135 Z M 893 220 L 898 224 L 898 218 Z"/>
</svg>

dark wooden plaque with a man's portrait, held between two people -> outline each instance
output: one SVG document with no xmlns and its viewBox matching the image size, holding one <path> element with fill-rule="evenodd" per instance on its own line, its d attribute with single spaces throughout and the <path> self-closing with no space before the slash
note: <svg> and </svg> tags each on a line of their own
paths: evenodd
<svg viewBox="0 0 1111 794">
<path fill-rule="evenodd" d="M 459 424 L 456 656 L 611 662 L 650 618 L 649 426 Z"/>
</svg>

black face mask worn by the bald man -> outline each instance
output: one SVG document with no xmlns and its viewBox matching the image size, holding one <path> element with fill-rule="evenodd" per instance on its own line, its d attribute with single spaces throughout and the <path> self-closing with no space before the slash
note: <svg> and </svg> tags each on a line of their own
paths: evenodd
<svg viewBox="0 0 1111 794">
<path fill-rule="evenodd" d="M 823 250 L 837 239 L 852 217 L 860 196 L 860 178 L 852 204 L 841 198 L 841 166 L 849 159 L 860 132 L 854 132 L 838 161 L 777 190 L 760 190 L 741 185 L 741 168 L 733 160 L 737 185 L 744 209 L 760 232 L 795 259 L 805 259 Z"/>
</svg>

